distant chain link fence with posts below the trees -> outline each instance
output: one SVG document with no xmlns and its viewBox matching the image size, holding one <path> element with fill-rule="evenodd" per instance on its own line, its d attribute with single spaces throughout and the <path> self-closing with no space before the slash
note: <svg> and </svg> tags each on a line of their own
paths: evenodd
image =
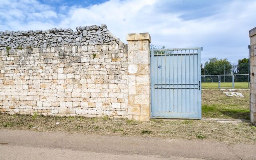
<svg viewBox="0 0 256 160">
<path fill-rule="evenodd" d="M 202 89 L 249 89 L 248 74 L 202 75 Z"/>
</svg>

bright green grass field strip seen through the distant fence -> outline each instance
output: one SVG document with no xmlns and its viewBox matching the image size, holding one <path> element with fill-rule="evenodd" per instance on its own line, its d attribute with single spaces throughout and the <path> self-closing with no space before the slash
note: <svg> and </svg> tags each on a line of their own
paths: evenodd
<svg viewBox="0 0 256 160">
<path fill-rule="evenodd" d="M 248 82 L 235 82 L 235 89 L 249 89 Z M 221 82 L 221 88 L 232 88 L 232 82 Z M 218 89 L 218 82 L 202 82 L 202 89 Z"/>
</svg>

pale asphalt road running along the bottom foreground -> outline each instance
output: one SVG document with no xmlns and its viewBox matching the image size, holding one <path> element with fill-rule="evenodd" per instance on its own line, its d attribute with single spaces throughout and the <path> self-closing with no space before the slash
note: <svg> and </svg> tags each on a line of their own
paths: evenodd
<svg viewBox="0 0 256 160">
<path fill-rule="evenodd" d="M 0 130 L 0 160 L 255 160 L 256 145 Z"/>
</svg>

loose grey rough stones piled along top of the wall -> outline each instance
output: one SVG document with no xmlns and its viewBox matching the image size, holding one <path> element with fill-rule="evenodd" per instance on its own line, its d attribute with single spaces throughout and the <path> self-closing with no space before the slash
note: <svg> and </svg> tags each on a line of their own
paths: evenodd
<svg viewBox="0 0 256 160">
<path fill-rule="evenodd" d="M 56 46 L 85 46 L 102 44 L 123 44 L 113 36 L 106 24 L 101 26 L 77 27 L 72 29 L 36 30 L 36 31 L 0 31 L 0 49 Z"/>
</svg>

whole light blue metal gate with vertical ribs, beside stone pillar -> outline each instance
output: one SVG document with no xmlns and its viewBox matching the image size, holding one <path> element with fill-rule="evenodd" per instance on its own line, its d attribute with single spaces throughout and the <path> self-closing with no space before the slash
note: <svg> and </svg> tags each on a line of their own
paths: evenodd
<svg viewBox="0 0 256 160">
<path fill-rule="evenodd" d="M 201 50 L 151 50 L 151 117 L 201 119 Z"/>
</svg>

